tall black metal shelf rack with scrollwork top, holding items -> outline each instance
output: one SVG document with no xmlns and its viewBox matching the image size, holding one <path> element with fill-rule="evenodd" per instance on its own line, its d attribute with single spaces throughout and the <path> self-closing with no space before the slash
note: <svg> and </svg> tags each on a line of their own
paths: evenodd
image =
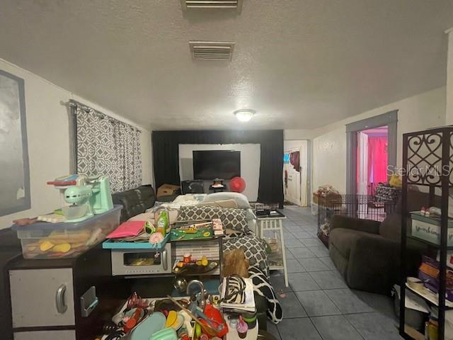
<svg viewBox="0 0 453 340">
<path fill-rule="evenodd" d="M 423 297 L 431 305 L 438 306 L 438 339 L 445 339 L 445 312 L 449 310 L 450 302 L 447 293 L 447 250 L 452 249 L 449 243 L 449 191 L 453 186 L 453 127 L 435 128 L 403 135 L 403 188 L 401 191 L 401 301 L 400 301 L 400 334 L 405 339 L 424 339 L 423 334 L 413 334 L 408 331 L 404 302 L 406 290 L 413 291 Z M 440 217 L 428 217 L 411 211 L 414 209 L 413 193 L 409 193 L 412 186 L 420 186 L 419 191 L 426 193 L 425 207 L 440 208 Z M 411 188 L 412 190 L 412 188 Z M 411 207 L 411 208 L 409 208 Z M 422 207 L 416 207 L 421 210 Z M 436 280 L 438 294 L 418 292 L 406 286 L 408 277 L 408 263 L 411 261 L 411 249 L 408 241 L 416 240 L 429 246 L 429 249 L 438 251 L 439 262 L 432 271 L 432 278 Z M 426 259 L 424 259 L 425 261 Z M 420 273 L 420 278 L 423 278 Z M 424 285 L 427 282 L 423 280 Z M 431 287 L 430 287 L 431 288 Z M 434 289 L 434 288 L 432 288 Z M 429 293 L 428 295 L 424 293 Z M 422 336 L 420 338 L 420 335 Z"/>
</svg>

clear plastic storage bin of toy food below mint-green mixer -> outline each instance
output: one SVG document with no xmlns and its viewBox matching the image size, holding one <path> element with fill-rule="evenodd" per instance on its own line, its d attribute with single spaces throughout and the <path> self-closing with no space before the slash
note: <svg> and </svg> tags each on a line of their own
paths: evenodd
<svg viewBox="0 0 453 340">
<path fill-rule="evenodd" d="M 36 222 L 13 225 L 25 259 L 72 258 L 98 244 L 120 225 L 122 205 L 88 220 L 74 223 Z"/>
</svg>

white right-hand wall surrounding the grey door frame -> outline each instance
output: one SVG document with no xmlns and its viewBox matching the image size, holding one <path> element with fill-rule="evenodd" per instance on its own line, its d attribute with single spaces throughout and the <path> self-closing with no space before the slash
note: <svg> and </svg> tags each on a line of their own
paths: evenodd
<svg viewBox="0 0 453 340">
<path fill-rule="evenodd" d="M 355 115 L 340 122 L 314 131 L 313 140 L 313 186 L 331 184 L 346 192 L 346 124 L 398 110 L 397 166 L 401 166 L 403 133 L 445 125 L 445 87 L 424 92 L 396 103 Z"/>
</svg>

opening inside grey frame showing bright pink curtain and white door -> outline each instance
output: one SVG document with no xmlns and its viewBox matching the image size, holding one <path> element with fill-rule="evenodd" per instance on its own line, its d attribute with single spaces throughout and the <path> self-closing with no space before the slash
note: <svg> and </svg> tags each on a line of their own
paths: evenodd
<svg viewBox="0 0 453 340">
<path fill-rule="evenodd" d="M 387 125 L 357 132 L 357 195 L 374 196 L 387 181 L 388 147 Z"/>
</svg>

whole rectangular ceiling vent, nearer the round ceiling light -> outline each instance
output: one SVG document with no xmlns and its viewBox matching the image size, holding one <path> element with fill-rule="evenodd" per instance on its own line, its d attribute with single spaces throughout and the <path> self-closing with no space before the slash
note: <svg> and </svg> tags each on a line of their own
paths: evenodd
<svg viewBox="0 0 453 340">
<path fill-rule="evenodd" d="M 229 60 L 233 57 L 234 42 L 190 41 L 193 60 Z"/>
</svg>

